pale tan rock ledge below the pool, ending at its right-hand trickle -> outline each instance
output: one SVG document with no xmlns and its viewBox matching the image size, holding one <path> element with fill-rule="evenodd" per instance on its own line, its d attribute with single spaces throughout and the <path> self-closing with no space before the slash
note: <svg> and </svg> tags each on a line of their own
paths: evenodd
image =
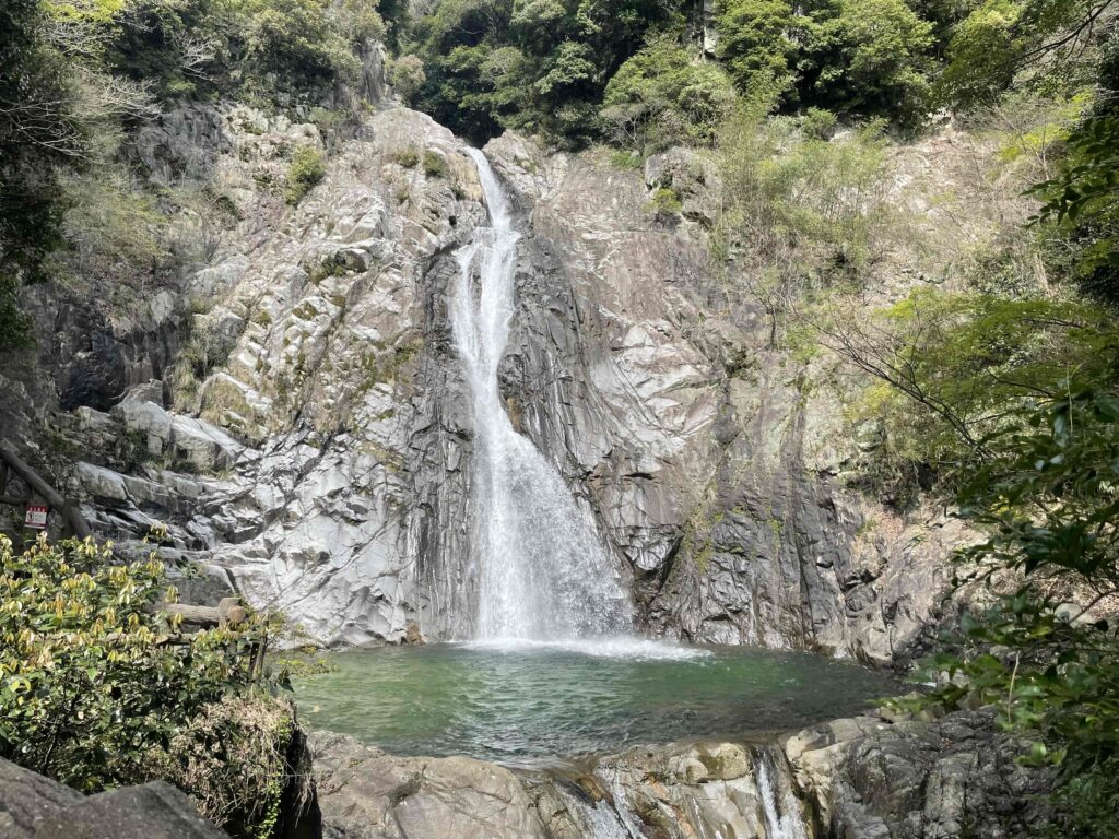
<svg viewBox="0 0 1119 839">
<path fill-rule="evenodd" d="M 796 835 L 779 832 L 782 818 L 803 824 L 788 773 L 774 769 L 771 781 L 760 761 L 773 758 L 739 744 L 634 748 L 587 766 L 514 771 L 463 757 L 393 757 L 338 735 L 316 734 L 311 748 L 326 839 L 788 839 Z"/>
</svg>

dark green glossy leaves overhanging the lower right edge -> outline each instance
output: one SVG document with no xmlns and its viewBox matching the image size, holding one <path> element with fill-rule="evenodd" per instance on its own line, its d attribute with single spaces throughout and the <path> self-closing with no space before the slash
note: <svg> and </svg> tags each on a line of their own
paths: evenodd
<svg viewBox="0 0 1119 839">
<path fill-rule="evenodd" d="M 1055 763 L 1078 796 L 1115 795 L 1099 772 L 1119 757 L 1119 643 L 1107 621 L 1057 593 L 1119 593 L 1119 394 L 1065 383 L 1023 412 L 960 493 L 961 515 L 989 538 L 960 558 L 988 579 L 1007 569 L 1024 584 L 990 612 L 966 615 L 958 648 L 931 666 L 952 678 L 918 705 L 995 705 L 1000 723 L 1033 735 L 1026 760 Z M 1060 581 L 1066 581 L 1064 586 Z M 1071 586 L 1071 588 L 1070 588 Z M 1059 796 L 1061 801 L 1061 796 Z"/>
</svg>

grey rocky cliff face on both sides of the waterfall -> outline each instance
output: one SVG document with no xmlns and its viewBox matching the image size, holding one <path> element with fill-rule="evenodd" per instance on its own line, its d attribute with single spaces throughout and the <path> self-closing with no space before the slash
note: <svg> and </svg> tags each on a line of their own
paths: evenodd
<svg viewBox="0 0 1119 839">
<path fill-rule="evenodd" d="M 291 149 L 328 143 L 322 183 L 288 207 Z M 238 105 L 168 114 L 135 153 L 152 177 L 207 178 L 229 229 L 104 328 L 32 292 L 39 373 L 4 366 L 6 433 L 55 441 L 32 454 L 56 472 L 77 461 L 103 534 L 169 522 L 169 553 L 312 640 L 469 634 L 472 421 L 446 305 L 485 207 L 461 142 L 392 103 L 348 134 Z M 844 489 L 859 449 L 836 365 L 770 349 L 713 279 L 717 172 L 681 151 L 619 171 L 516 135 L 487 153 L 525 233 L 508 409 L 594 511 L 642 625 L 903 659 L 965 535 Z M 661 186 L 680 218 L 650 213 Z"/>
</svg>

